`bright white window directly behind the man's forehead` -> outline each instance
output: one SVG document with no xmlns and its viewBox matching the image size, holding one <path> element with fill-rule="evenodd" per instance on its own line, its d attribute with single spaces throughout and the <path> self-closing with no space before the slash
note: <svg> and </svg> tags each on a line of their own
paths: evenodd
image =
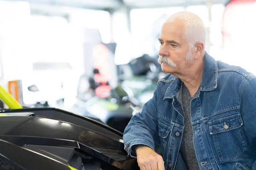
<svg viewBox="0 0 256 170">
<path fill-rule="evenodd" d="M 166 18 L 183 7 L 145 8 L 131 10 L 131 36 L 134 57 L 143 54 L 157 55 L 159 50 L 158 37 Z"/>
</svg>

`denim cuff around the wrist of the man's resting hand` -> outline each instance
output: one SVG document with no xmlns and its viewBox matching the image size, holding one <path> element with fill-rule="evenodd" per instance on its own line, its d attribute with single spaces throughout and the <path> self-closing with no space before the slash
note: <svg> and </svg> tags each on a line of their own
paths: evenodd
<svg viewBox="0 0 256 170">
<path fill-rule="evenodd" d="M 136 158 L 137 155 L 136 155 L 136 153 L 134 153 L 134 152 L 136 152 L 136 150 L 132 150 L 132 147 L 134 145 L 137 145 L 137 144 L 141 144 L 141 145 L 151 147 L 151 149 L 154 150 L 154 144 L 151 144 L 150 142 L 142 140 L 142 139 L 140 139 L 140 140 L 136 139 L 136 140 L 132 140 L 130 142 L 127 142 L 125 144 L 125 150 L 126 150 L 126 152 L 128 153 L 129 156 Z"/>
</svg>

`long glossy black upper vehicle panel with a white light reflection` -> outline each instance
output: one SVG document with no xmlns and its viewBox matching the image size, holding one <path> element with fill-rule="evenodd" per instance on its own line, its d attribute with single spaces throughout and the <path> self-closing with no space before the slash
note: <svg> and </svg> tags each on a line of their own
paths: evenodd
<svg viewBox="0 0 256 170">
<path fill-rule="evenodd" d="M 4 116 L 0 119 L 0 126 L 4 129 L 0 131 L 0 135 L 38 136 L 74 140 L 86 144 L 88 147 L 104 148 L 116 151 L 115 153 L 127 155 L 123 149 L 124 145 L 122 142 L 119 142 L 119 139 L 54 119 L 36 116 Z"/>
</svg>

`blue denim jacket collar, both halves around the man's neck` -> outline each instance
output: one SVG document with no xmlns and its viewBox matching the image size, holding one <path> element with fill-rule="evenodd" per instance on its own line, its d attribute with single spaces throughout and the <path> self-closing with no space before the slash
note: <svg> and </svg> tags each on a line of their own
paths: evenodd
<svg viewBox="0 0 256 170">
<path fill-rule="evenodd" d="M 217 88 L 217 77 L 218 69 L 217 62 L 213 57 L 211 57 L 207 52 L 204 54 L 204 70 L 201 80 L 201 85 L 199 86 L 199 91 L 212 91 Z M 164 99 L 173 98 L 180 91 L 181 80 L 177 77 L 173 78 L 173 81 L 166 90 Z"/>
</svg>

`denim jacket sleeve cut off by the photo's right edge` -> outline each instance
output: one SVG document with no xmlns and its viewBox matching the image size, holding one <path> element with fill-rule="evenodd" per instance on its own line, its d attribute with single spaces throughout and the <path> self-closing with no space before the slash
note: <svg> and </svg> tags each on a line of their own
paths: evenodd
<svg viewBox="0 0 256 170">
<path fill-rule="evenodd" d="M 243 129 L 251 146 L 256 151 L 256 77 L 248 79 L 241 90 L 240 113 Z M 256 161 L 253 164 L 256 170 Z"/>
</svg>

